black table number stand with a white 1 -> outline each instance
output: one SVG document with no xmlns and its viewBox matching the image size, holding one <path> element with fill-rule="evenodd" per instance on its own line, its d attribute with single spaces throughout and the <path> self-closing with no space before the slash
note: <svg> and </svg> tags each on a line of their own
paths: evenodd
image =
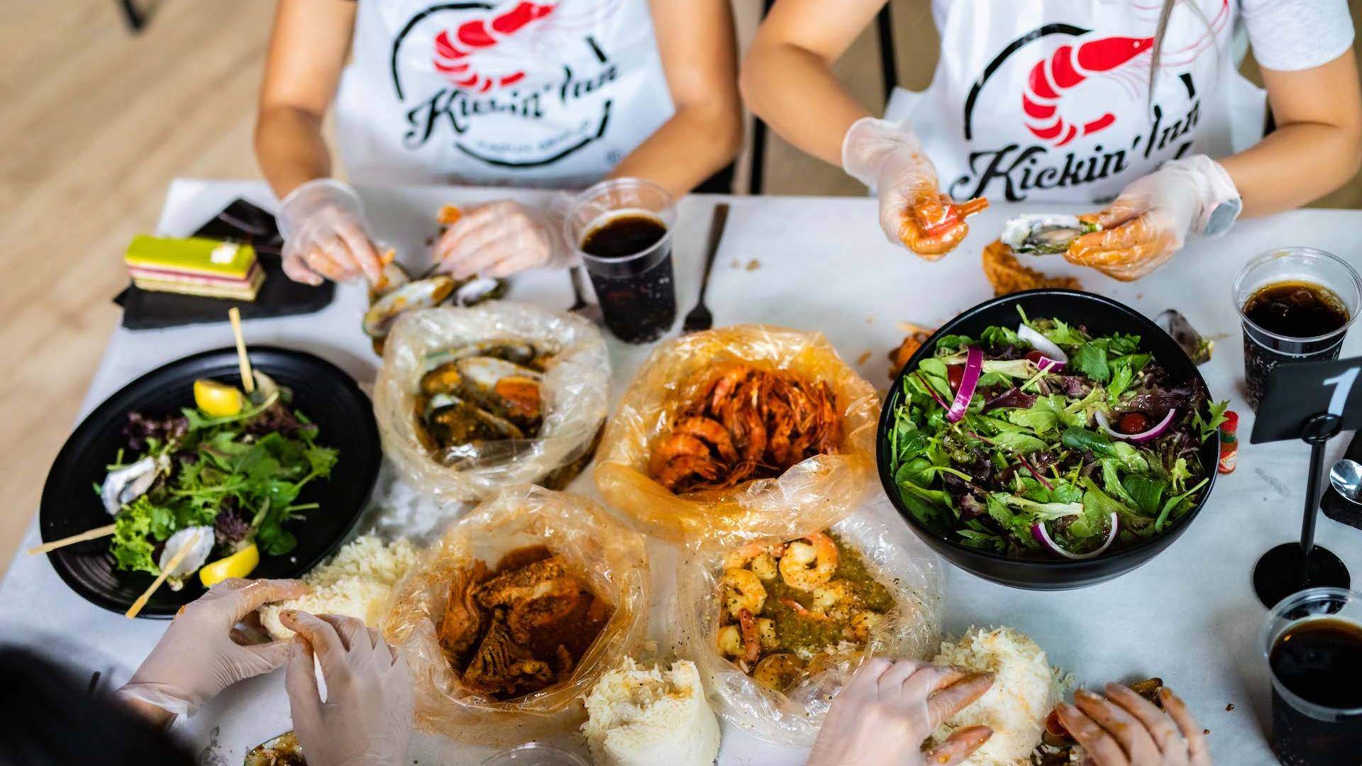
<svg viewBox="0 0 1362 766">
<path fill-rule="evenodd" d="M 1310 446 L 1310 474 L 1301 519 L 1301 541 L 1284 542 L 1253 567 L 1253 590 L 1269 609 L 1306 587 L 1348 587 L 1351 577 L 1328 548 L 1314 544 L 1314 522 L 1324 495 L 1324 453 L 1329 439 L 1362 427 L 1362 357 L 1283 364 L 1268 376 L 1252 444 L 1301 439 Z"/>
</svg>

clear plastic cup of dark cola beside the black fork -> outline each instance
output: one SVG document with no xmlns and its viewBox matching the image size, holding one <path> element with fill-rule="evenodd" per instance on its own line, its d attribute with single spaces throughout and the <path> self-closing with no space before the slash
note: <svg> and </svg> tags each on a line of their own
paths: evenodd
<svg viewBox="0 0 1362 766">
<path fill-rule="evenodd" d="M 655 219 L 666 232 L 639 252 L 599 258 L 582 251 L 582 244 L 612 219 L 642 215 Z M 671 328 L 677 316 L 677 293 L 671 270 L 671 228 L 676 199 L 662 187 L 643 179 L 612 179 L 586 189 L 572 202 L 563 221 L 563 236 L 582 256 L 595 288 L 605 324 L 621 341 L 655 341 Z"/>
</svg>

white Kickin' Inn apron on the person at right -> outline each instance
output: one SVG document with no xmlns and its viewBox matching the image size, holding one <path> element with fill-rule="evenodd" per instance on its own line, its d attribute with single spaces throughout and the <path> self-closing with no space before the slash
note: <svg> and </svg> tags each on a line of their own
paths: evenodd
<svg viewBox="0 0 1362 766">
<path fill-rule="evenodd" d="M 885 116 L 911 120 L 956 199 L 1105 203 L 1167 159 L 1256 142 L 1264 97 L 1237 71 L 1238 4 L 1177 4 L 1151 99 L 1160 5 L 953 0 L 932 86 L 896 91 Z"/>
</svg>

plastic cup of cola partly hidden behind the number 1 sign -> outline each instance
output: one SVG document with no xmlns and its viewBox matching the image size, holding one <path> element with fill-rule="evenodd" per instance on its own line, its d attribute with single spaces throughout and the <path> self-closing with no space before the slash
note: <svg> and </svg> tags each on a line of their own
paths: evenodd
<svg viewBox="0 0 1362 766">
<path fill-rule="evenodd" d="M 1342 327 L 1313 338 L 1293 338 L 1253 323 L 1244 308 L 1260 289 L 1279 282 L 1310 282 L 1343 301 L 1348 319 Z M 1362 305 L 1362 277 L 1343 259 L 1323 249 L 1283 247 L 1253 256 L 1234 278 L 1234 305 L 1244 322 L 1244 378 L 1253 412 L 1263 399 L 1268 373 L 1279 364 L 1339 358 L 1343 337 Z"/>
</svg>

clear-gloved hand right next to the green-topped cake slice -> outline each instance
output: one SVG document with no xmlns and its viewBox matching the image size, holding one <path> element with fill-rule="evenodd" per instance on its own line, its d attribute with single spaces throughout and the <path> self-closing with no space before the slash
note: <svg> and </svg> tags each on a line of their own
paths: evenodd
<svg viewBox="0 0 1362 766">
<path fill-rule="evenodd" d="M 279 203 L 283 273 L 294 282 L 320 285 L 323 278 L 349 282 L 364 275 L 370 285 L 383 278 L 380 255 L 364 222 L 364 203 L 350 184 L 315 179 Z"/>
</svg>

